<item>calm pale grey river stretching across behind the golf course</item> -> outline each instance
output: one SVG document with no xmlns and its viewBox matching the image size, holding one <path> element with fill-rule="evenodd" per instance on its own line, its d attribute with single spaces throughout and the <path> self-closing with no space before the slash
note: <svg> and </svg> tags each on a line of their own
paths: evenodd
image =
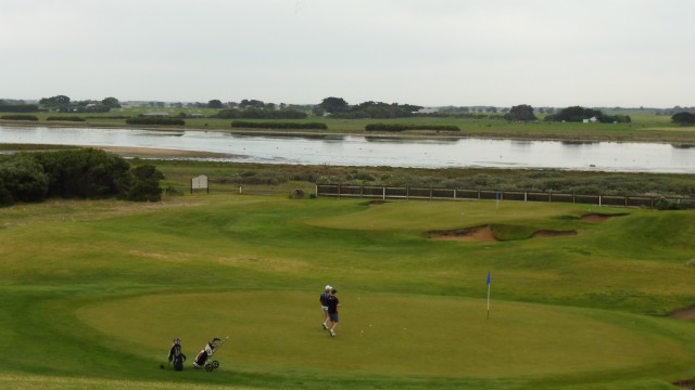
<svg viewBox="0 0 695 390">
<path fill-rule="evenodd" d="M 0 126 L 0 143 L 152 147 L 214 152 L 216 160 L 417 168 L 557 168 L 695 173 L 695 145 L 363 135 L 252 136 L 225 131 L 154 131 Z"/>
</svg>

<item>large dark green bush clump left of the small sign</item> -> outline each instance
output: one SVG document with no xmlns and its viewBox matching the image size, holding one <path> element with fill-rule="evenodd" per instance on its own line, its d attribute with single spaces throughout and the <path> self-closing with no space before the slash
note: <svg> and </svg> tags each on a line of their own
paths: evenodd
<svg viewBox="0 0 695 390">
<path fill-rule="evenodd" d="M 124 158 L 94 148 L 0 155 L 0 206 L 51 197 L 156 202 L 161 179 L 152 165 L 131 169 Z"/>
</svg>

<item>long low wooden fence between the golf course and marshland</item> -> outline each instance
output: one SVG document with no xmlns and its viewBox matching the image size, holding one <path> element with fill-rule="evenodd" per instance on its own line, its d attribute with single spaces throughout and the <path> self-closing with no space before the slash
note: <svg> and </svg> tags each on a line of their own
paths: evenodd
<svg viewBox="0 0 695 390">
<path fill-rule="evenodd" d="M 378 198 L 378 199 L 493 199 L 519 202 L 571 203 L 597 206 L 654 207 L 660 199 L 653 196 L 621 196 L 621 195 L 585 195 L 553 192 L 520 192 L 491 190 L 456 190 L 456 188 L 422 188 L 407 186 L 374 186 L 349 184 L 318 184 L 317 196 L 345 198 Z M 667 197 L 666 200 L 681 205 L 684 208 L 695 208 L 695 198 Z"/>
</svg>

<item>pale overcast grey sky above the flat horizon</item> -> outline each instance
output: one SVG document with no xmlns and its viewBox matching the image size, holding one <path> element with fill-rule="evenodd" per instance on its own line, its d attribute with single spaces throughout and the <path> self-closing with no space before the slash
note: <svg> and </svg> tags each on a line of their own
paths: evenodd
<svg viewBox="0 0 695 390">
<path fill-rule="evenodd" d="M 0 99 L 695 106 L 692 0 L 0 0 Z"/>
</svg>

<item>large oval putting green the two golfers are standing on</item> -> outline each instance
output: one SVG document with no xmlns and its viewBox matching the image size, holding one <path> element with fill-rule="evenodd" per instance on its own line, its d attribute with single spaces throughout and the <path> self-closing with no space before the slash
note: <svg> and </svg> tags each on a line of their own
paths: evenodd
<svg viewBox="0 0 695 390">
<path fill-rule="evenodd" d="M 665 330 L 672 321 L 591 309 L 447 297 L 339 294 L 330 338 L 318 294 L 230 291 L 149 295 L 78 310 L 111 348 L 161 362 L 180 337 L 192 358 L 230 335 L 220 369 L 249 373 L 520 378 L 640 372 L 693 353 Z"/>
</svg>

